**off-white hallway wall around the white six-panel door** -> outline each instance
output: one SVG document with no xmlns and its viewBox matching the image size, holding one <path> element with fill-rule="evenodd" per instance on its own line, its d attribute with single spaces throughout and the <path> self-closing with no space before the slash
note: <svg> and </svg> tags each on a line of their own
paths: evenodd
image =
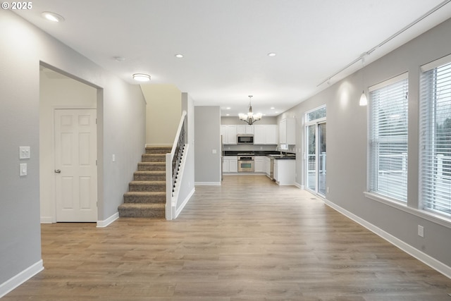
<svg viewBox="0 0 451 301">
<path fill-rule="evenodd" d="M 96 109 L 97 89 L 41 68 L 39 73 L 39 177 L 41 222 L 54 223 L 54 110 Z"/>
</svg>

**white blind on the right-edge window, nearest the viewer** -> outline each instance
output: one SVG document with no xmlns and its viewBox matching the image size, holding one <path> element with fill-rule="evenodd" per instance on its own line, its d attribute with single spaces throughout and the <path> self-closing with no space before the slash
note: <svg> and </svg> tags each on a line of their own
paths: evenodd
<svg viewBox="0 0 451 301">
<path fill-rule="evenodd" d="M 422 66 L 420 80 L 421 204 L 445 216 L 451 216 L 450 62 L 448 56 Z"/>
</svg>

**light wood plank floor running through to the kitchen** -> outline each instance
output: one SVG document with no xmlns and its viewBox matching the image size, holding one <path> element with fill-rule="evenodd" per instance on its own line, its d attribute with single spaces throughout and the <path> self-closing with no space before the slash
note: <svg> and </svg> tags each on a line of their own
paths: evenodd
<svg viewBox="0 0 451 301">
<path fill-rule="evenodd" d="M 451 301 L 450 278 L 265 176 L 198 186 L 175 221 L 44 224 L 42 258 L 5 301 Z"/>
</svg>

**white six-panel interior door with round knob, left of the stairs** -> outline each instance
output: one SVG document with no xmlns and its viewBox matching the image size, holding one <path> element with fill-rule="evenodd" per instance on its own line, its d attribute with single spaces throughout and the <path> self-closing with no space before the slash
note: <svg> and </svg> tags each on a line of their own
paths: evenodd
<svg viewBox="0 0 451 301">
<path fill-rule="evenodd" d="M 56 109 L 56 221 L 97 221 L 96 160 L 96 110 Z"/>
</svg>

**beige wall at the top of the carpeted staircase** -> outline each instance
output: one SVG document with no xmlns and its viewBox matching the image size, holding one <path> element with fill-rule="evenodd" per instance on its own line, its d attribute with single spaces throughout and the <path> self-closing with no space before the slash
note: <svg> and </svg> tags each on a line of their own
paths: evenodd
<svg viewBox="0 0 451 301">
<path fill-rule="evenodd" d="M 146 106 L 146 143 L 172 145 L 182 116 L 182 94 L 175 85 L 141 85 Z"/>
</svg>

